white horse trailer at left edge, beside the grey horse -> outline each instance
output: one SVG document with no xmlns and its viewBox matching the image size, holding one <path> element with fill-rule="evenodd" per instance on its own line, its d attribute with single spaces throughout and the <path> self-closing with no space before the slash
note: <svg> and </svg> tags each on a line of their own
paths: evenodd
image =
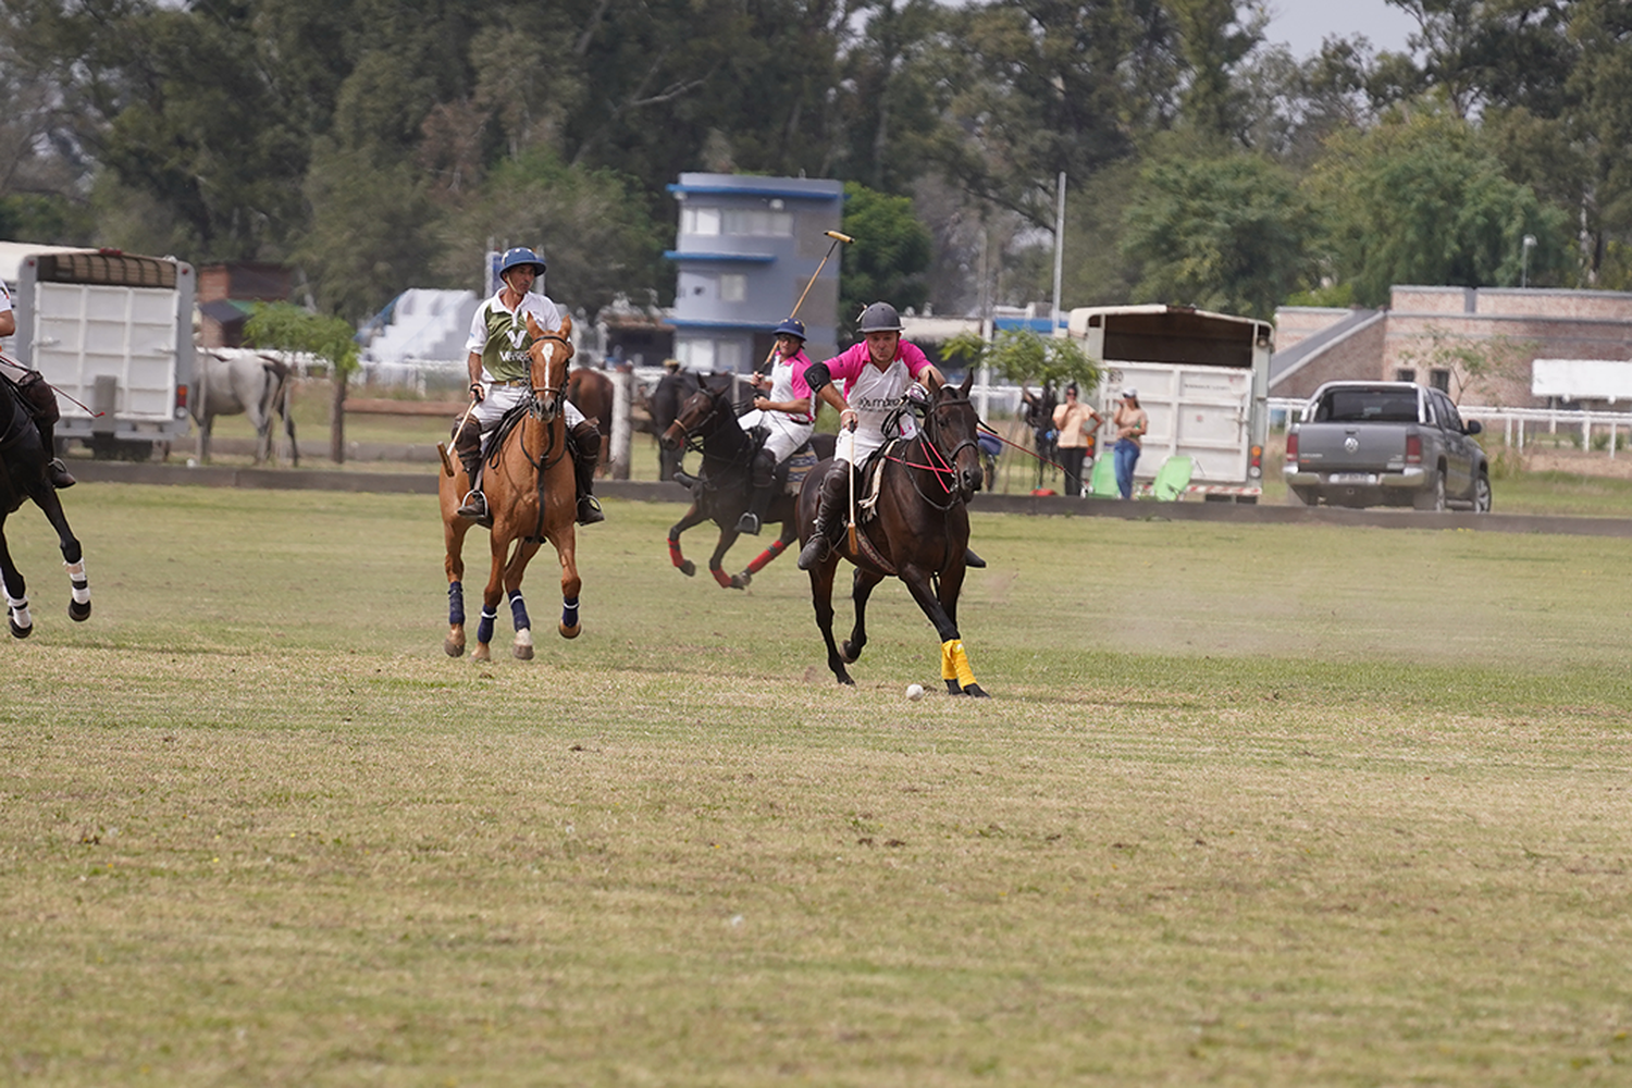
<svg viewBox="0 0 1632 1088">
<path fill-rule="evenodd" d="M 186 436 L 194 393 L 193 266 L 118 250 L 0 241 L 8 354 L 57 388 L 57 444 L 147 460 Z"/>
</svg>

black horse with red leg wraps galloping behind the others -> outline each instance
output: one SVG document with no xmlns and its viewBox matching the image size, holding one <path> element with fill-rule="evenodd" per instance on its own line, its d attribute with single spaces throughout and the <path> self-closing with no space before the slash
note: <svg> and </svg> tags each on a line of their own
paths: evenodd
<svg viewBox="0 0 1632 1088">
<path fill-rule="evenodd" d="M 697 391 L 687 396 L 674 416 L 674 422 L 663 432 L 663 445 L 671 452 L 684 450 L 687 444 L 702 453 L 702 468 L 692 488 L 692 507 L 685 511 L 674 525 L 669 527 L 669 561 L 679 568 L 681 574 L 690 577 L 697 573 L 697 564 L 681 553 L 681 533 L 694 525 L 713 522 L 720 527 L 720 542 L 713 555 L 708 556 L 708 571 L 723 589 L 746 589 L 754 574 L 767 563 L 782 555 L 798 535 L 798 524 L 793 519 L 796 496 L 788 491 L 785 473 L 808 470 L 823 455 L 832 457 L 831 434 L 818 434 L 809 442 L 805 458 L 795 453 L 778 473 L 778 488 L 765 511 L 765 524 L 782 525 L 782 535 L 770 542 L 741 574 L 726 574 L 723 568 L 725 553 L 736 543 L 738 519 L 747 509 L 749 478 L 752 475 L 754 455 L 759 442 L 738 424 L 738 406 L 733 403 L 731 382 L 708 383 L 695 378 Z M 801 450 L 803 453 L 805 450 Z M 805 462 L 800 465 L 800 462 Z M 793 488 L 800 480 L 795 478 Z"/>
</svg>

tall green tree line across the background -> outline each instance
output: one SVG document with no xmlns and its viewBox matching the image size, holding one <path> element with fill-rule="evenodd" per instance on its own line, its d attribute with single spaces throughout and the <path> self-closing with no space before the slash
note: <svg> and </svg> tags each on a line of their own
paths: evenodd
<svg viewBox="0 0 1632 1088">
<path fill-rule="evenodd" d="M 0 0 L 0 237 L 281 261 L 359 321 L 542 245 L 667 303 L 681 171 L 847 183 L 847 305 L 1632 287 L 1632 0 Z M 1531 241 L 1526 243 L 1524 240 Z"/>
</svg>

